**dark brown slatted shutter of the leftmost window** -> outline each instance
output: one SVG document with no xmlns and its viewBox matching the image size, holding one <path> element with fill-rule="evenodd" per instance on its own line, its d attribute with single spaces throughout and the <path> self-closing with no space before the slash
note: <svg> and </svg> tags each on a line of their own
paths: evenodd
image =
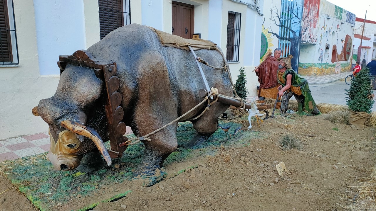
<svg viewBox="0 0 376 211">
<path fill-rule="evenodd" d="M 12 61 L 11 36 L 9 33 L 8 7 L 6 0 L 0 0 L 0 62 Z"/>
</svg>

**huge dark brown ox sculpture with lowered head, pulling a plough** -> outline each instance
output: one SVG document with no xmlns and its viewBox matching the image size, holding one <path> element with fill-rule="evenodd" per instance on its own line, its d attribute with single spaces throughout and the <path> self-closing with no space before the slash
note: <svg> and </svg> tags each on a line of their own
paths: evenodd
<svg viewBox="0 0 376 211">
<path fill-rule="evenodd" d="M 130 24 L 109 33 L 87 50 L 92 60 L 116 63 L 122 108 L 117 111 L 121 113 L 118 121 L 130 126 L 137 137 L 168 124 L 203 100 L 198 90 L 205 85 L 193 54 L 178 45 L 164 44 L 161 35 L 164 34 L 152 28 Z M 218 47 L 195 48 L 194 52 L 212 66 L 227 65 Z M 111 137 L 106 117 L 108 84 L 90 65 L 65 63 L 60 68 L 64 71 L 55 95 L 42 99 L 33 109 L 49 125 L 51 149 L 47 158 L 56 169 L 71 170 L 79 166 L 84 154 L 99 150 L 110 165 L 109 150 L 103 145 Z M 228 69 L 207 65 L 202 65 L 202 69 L 209 86 L 223 95 L 233 95 Z M 206 105 L 200 105 L 179 122 L 198 116 Z M 206 142 L 217 130 L 218 117 L 228 107 L 217 102 L 191 120 L 197 133 L 186 146 Z M 163 172 L 165 158 L 177 148 L 176 128 L 177 122 L 151 135 L 149 141 L 142 140 L 146 149 L 134 176 Z M 155 182 L 158 181 L 154 179 L 147 185 Z"/>
</svg>

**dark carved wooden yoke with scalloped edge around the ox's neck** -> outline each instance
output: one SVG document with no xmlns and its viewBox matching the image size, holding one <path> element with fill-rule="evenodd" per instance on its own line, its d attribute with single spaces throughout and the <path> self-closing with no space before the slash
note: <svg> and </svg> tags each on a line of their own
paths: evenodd
<svg viewBox="0 0 376 211">
<path fill-rule="evenodd" d="M 95 59 L 86 50 L 78 50 L 72 55 L 59 56 L 58 66 L 60 68 L 60 74 L 64 71 L 68 63 L 94 68 L 97 77 L 105 81 L 107 95 L 105 109 L 111 144 L 111 150 L 107 150 L 112 159 L 122 157 L 127 146 L 120 147 L 119 143 L 126 142 L 128 139 L 123 136 L 126 133 L 126 125 L 122 122 L 124 110 L 120 106 L 122 97 L 121 93 L 118 92 L 120 81 L 116 76 L 116 62 L 106 63 Z"/>
</svg>

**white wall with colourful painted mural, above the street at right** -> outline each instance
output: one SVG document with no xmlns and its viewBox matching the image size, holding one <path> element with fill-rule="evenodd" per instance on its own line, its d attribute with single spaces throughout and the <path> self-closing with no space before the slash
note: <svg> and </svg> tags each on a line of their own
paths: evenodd
<svg viewBox="0 0 376 211">
<path fill-rule="evenodd" d="M 309 18 L 302 20 L 299 74 L 318 76 L 349 71 L 355 14 L 326 0 L 306 0 L 303 17 Z"/>
</svg>

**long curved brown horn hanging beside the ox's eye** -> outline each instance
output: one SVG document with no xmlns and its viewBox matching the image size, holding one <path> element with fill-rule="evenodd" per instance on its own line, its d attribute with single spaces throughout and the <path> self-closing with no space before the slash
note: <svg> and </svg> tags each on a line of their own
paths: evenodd
<svg viewBox="0 0 376 211">
<path fill-rule="evenodd" d="M 71 121 L 69 119 L 64 119 L 63 121 L 60 122 L 60 125 L 64 128 L 67 128 L 70 130 L 72 133 L 75 133 L 77 135 L 85 136 L 91 139 L 97 148 L 99 149 L 100 153 L 103 155 L 103 158 L 105 158 L 105 161 L 108 166 L 111 166 L 111 157 L 108 154 L 108 151 L 103 144 L 103 140 L 100 138 L 99 134 L 97 131 L 95 131 L 92 128 L 85 127 L 83 125 L 78 124 L 77 122 Z"/>
</svg>

